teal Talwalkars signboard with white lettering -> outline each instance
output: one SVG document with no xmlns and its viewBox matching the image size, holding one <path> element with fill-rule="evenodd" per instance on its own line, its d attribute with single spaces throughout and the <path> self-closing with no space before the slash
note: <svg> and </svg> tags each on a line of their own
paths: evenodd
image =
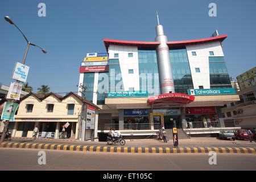
<svg viewBox="0 0 256 182">
<path fill-rule="evenodd" d="M 189 89 L 188 94 L 191 96 L 236 94 L 236 90 L 234 88 L 230 88 L 230 89 Z"/>
</svg>

